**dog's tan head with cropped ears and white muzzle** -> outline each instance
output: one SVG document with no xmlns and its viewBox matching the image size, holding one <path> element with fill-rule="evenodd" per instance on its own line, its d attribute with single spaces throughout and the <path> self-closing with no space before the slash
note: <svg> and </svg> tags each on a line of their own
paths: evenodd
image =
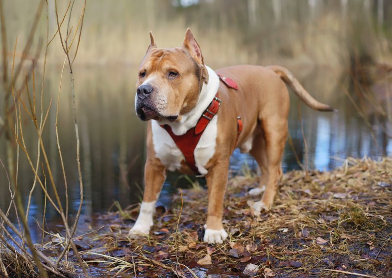
<svg viewBox="0 0 392 278">
<path fill-rule="evenodd" d="M 189 28 L 179 47 L 158 48 L 151 32 L 150 39 L 136 83 L 136 114 L 142 120 L 181 120 L 208 82 L 200 47 Z"/>
</svg>

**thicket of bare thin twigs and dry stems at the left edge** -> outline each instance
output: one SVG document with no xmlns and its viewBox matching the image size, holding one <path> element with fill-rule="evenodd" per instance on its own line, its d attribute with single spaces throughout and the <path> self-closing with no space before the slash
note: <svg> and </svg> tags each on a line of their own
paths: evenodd
<svg viewBox="0 0 392 278">
<path fill-rule="evenodd" d="M 41 85 L 41 97 L 40 97 L 40 105 L 38 103 L 38 97 L 36 94 L 36 80 L 35 80 L 35 70 L 37 68 L 37 59 L 41 50 L 41 43 L 38 45 L 36 54 L 33 56 L 34 58 L 31 60 L 31 63 L 28 63 L 28 57 L 30 48 L 32 46 L 32 40 L 34 38 L 38 21 L 40 19 L 43 7 L 46 3 L 47 7 L 47 35 L 46 35 L 46 48 L 44 54 L 44 64 L 43 64 L 43 80 Z M 55 1 L 56 3 L 56 1 Z M 37 11 L 34 17 L 33 24 L 31 26 L 31 30 L 28 36 L 28 40 L 24 46 L 22 58 L 19 63 L 15 62 L 16 56 L 16 47 L 17 40 L 15 41 L 14 54 L 12 60 L 12 68 L 11 74 L 7 74 L 8 67 L 8 58 L 6 55 L 6 47 L 7 47 L 7 36 L 6 36 L 6 24 L 4 20 L 3 13 L 3 2 L 0 2 L 0 19 L 1 19 L 1 34 L 2 34 L 2 47 L 3 47 L 3 89 L 4 89 L 4 118 L 2 120 L 1 117 L 1 126 L 0 126 L 0 136 L 4 133 L 7 144 L 7 167 L 5 167 L 4 163 L 1 161 L 1 165 L 4 171 L 7 174 L 9 188 L 10 188 L 10 196 L 11 201 L 7 211 L 4 213 L 0 209 L 0 269 L 1 275 L 4 277 L 73 277 L 74 274 L 71 272 L 73 269 L 68 264 L 67 259 L 63 260 L 63 257 L 68 254 L 70 248 L 73 248 L 73 255 L 78 258 L 79 267 L 83 271 L 84 276 L 88 277 L 89 274 L 85 268 L 85 265 L 78 255 L 78 251 L 76 246 L 73 243 L 73 234 L 77 227 L 78 218 L 81 212 L 81 207 L 83 204 L 83 184 L 81 178 L 81 170 L 80 170 L 80 150 L 79 150 L 79 136 L 78 136 L 78 127 L 77 127 L 77 117 L 76 117 L 76 107 L 75 107 L 75 91 L 74 91 L 74 81 L 73 81 L 73 68 L 72 63 L 76 57 L 78 46 L 80 43 L 81 31 L 83 26 L 83 19 L 85 13 L 86 1 L 81 9 L 81 15 L 79 21 L 74 28 L 73 33 L 71 32 L 71 14 L 73 11 L 74 0 L 69 1 L 69 5 L 65 14 L 63 16 L 63 21 L 61 24 L 58 20 L 58 10 L 57 6 L 55 6 L 55 13 L 57 18 L 57 31 L 53 35 L 52 39 L 49 41 L 49 11 L 48 11 L 48 1 L 41 0 Z M 71 7 L 71 8 L 69 8 Z M 66 29 L 66 36 L 63 41 L 62 34 L 64 31 L 61 29 L 62 23 L 64 23 L 64 19 L 68 15 L 68 23 Z M 64 28 L 63 28 L 64 29 Z M 51 169 L 51 164 L 49 163 L 49 158 L 47 155 L 47 146 L 45 145 L 42 139 L 42 133 L 45 128 L 45 124 L 49 115 L 49 111 L 51 109 L 51 104 L 53 97 L 49 102 L 48 107 L 44 107 L 43 104 L 43 94 L 44 90 L 44 82 L 45 82 L 45 67 L 47 62 L 47 53 L 48 47 L 52 40 L 55 37 L 59 37 L 61 44 L 63 46 L 64 55 L 68 60 L 69 69 L 71 71 L 71 88 L 72 88 L 72 96 L 73 96 L 73 114 L 74 114 L 74 124 L 75 124 L 75 134 L 76 134 L 76 142 L 77 142 L 77 162 L 78 162 L 78 174 L 80 181 L 80 205 L 79 209 L 76 213 L 76 217 L 70 227 L 68 222 L 68 201 L 66 202 L 66 209 L 63 208 L 61 203 L 59 193 L 58 193 L 58 185 L 54 182 L 53 173 Z M 76 40 L 75 40 L 76 38 Z M 72 46 L 74 47 L 72 48 Z M 5 50 L 4 50 L 5 49 Z M 72 58 L 70 56 L 72 55 Z M 27 64 L 27 65 L 26 65 Z M 25 78 L 20 80 L 19 78 L 22 72 L 26 71 Z M 32 89 L 29 89 L 32 88 Z M 59 94 L 61 91 L 61 78 L 60 78 L 60 86 L 59 86 Z M 57 99 L 59 101 L 59 98 Z M 57 103 L 57 111 L 58 115 L 59 105 Z M 31 155 L 31 150 L 27 147 L 27 144 L 31 138 L 25 139 L 24 129 L 25 118 L 29 118 L 33 124 L 33 128 L 36 131 L 36 139 L 38 140 L 37 146 L 37 157 L 35 158 L 36 162 L 34 163 L 34 158 Z M 56 131 L 57 131 L 57 123 L 56 123 Z M 58 138 L 57 138 L 58 139 Z M 61 157 L 61 148 L 58 142 L 58 151 Z M 31 170 L 34 174 L 34 182 L 32 184 L 28 203 L 26 208 L 22 202 L 21 191 L 18 186 L 18 177 L 19 177 L 19 161 L 20 161 L 20 151 L 25 154 L 25 157 L 31 167 Z M 64 164 L 61 160 L 62 169 L 64 170 Z M 9 173 L 9 176 L 8 176 Z M 65 176 L 64 176 L 65 179 Z M 66 180 L 65 180 L 66 183 Z M 36 189 L 36 185 L 40 185 L 44 196 L 45 196 L 45 210 L 47 201 L 51 204 L 51 206 L 57 211 L 57 213 L 61 216 L 63 220 L 63 225 L 65 228 L 65 236 L 64 236 L 64 244 L 61 245 L 61 250 L 56 255 L 56 258 L 52 256 L 45 255 L 41 250 L 37 248 L 36 245 L 33 244 L 29 227 L 27 225 L 27 217 L 29 214 L 29 209 L 31 205 L 31 196 L 33 191 Z M 51 187 L 53 194 L 49 193 L 48 185 Z M 54 195 L 54 196 L 53 196 Z M 68 200 L 68 190 L 65 191 L 66 199 Z M 15 209 L 14 213 L 17 216 L 18 225 L 11 223 L 8 216 L 11 209 Z M 42 230 L 45 231 L 45 213 L 44 219 L 42 222 Z M 70 268 L 71 267 L 71 268 Z"/>
</svg>

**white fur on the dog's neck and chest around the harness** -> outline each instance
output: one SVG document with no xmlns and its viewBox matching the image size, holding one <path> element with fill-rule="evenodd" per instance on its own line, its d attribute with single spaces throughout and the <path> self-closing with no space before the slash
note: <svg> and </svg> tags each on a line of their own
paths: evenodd
<svg viewBox="0 0 392 278">
<path fill-rule="evenodd" d="M 154 143 L 156 157 L 161 160 L 169 171 L 180 169 L 181 161 L 185 160 L 185 158 L 169 133 L 160 127 L 160 124 L 169 124 L 175 135 L 185 134 L 190 128 L 196 126 L 198 119 L 211 103 L 219 88 L 218 75 L 209 67 L 207 67 L 207 70 L 209 75 L 208 84 L 203 85 L 196 107 L 186 115 L 183 115 L 180 122 L 169 123 L 152 120 L 152 141 Z M 198 171 L 202 175 L 207 174 L 205 166 L 215 153 L 218 133 L 217 122 L 218 115 L 214 116 L 212 121 L 207 125 L 196 145 L 195 162 Z"/>
</svg>

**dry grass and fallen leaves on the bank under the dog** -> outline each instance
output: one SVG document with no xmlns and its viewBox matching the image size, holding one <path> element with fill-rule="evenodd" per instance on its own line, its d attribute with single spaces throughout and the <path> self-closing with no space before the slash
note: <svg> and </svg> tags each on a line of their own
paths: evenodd
<svg viewBox="0 0 392 278">
<path fill-rule="evenodd" d="M 207 194 L 200 187 L 177 194 L 170 209 L 158 207 L 148 238 L 127 238 L 133 220 L 125 218 L 136 207 L 100 216 L 96 225 L 105 228 L 75 243 L 93 275 L 244 277 L 252 263 L 259 277 L 391 276 L 392 159 L 350 158 L 332 172 L 309 174 L 285 174 L 274 208 L 257 218 L 247 204 L 257 197 L 246 195 L 257 177 L 230 179 L 224 245 L 202 242 Z M 197 263 L 208 263 L 208 255 L 211 265 Z"/>
</svg>

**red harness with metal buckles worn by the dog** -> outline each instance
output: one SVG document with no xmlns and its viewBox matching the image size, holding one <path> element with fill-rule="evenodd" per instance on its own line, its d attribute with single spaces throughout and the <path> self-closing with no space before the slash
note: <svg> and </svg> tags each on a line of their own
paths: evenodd
<svg viewBox="0 0 392 278">
<path fill-rule="evenodd" d="M 228 87 L 232 88 L 235 90 L 238 90 L 238 85 L 237 83 L 230 79 L 222 76 L 221 74 L 218 74 L 220 77 L 221 81 Z M 172 128 L 170 125 L 161 125 L 166 131 L 169 133 L 169 135 L 172 137 L 173 141 L 177 145 L 177 147 L 181 150 L 185 157 L 185 161 L 187 162 L 188 166 L 194 171 L 196 175 L 200 175 L 197 167 L 196 167 L 196 161 L 195 161 L 195 149 L 196 145 L 200 140 L 201 135 L 203 134 L 205 128 L 209 124 L 209 122 L 213 119 L 213 117 L 218 113 L 219 107 L 221 106 L 221 99 L 218 97 L 218 93 L 215 95 L 214 99 L 210 103 L 210 105 L 207 107 L 206 110 L 204 110 L 203 114 L 197 121 L 197 124 L 195 127 L 189 129 L 185 134 L 183 135 L 175 135 L 172 131 Z M 243 128 L 243 123 L 241 121 L 241 117 L 237 117 L 237 140 L 240 137 L 241 131 Z M 236 142 L 237 144 L 237 142 Z"/>
</svg>

